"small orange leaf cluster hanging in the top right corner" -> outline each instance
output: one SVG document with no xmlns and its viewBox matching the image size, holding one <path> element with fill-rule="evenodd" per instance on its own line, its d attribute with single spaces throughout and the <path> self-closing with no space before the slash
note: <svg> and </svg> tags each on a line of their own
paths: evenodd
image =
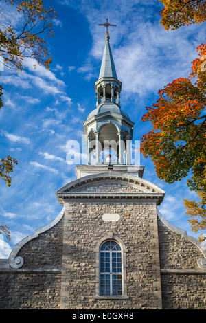
<svg viewBox="0 0 206 323">
<path fill-rule="evenodd" d="M 165 30 L 176 30 L 183 25 L 205 21 L 205 0 L 159 0 L 159 2 L 165 6 L 160 12 L 161 25 Z"/>
</svg>

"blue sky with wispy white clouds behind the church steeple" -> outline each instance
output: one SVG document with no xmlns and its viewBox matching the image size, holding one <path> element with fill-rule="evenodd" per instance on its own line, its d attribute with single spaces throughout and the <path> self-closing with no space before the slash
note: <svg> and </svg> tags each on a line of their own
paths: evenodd
<svg viewBox="0 0 206 323">
<path fill-rule="evenodd" d="M 34 230 L 53 221 L 62 210 L 56 190 L 76 179 L 75 164 L 85 164 L 85 152 L 68 142 L 82 144 L 83 122 L 95 109 L 94 82 L 98 80 L 106 29 L 122 82 L 121 107 L 135 122 L 133 140 L 141 140 L 151 124 L 141 118 L 158 99 L 159 89 L 179 77 L 190 75 L 196 47 L 205 42 L 205 24 L 165 31 L 161 27 L 158 0 L 44 0 L 56 10 L 54 37 L 47 40 L 52 64 L 34 69 L 24 61 L 21 72 L 4 68 L 3 108 L 0 110 L 1 157 L 18 160 L 12 186 L 0 181 L 0 222 L 10 227 L 11 241 L 0 235 L 0 258 Z M 6 23 L 20 30 L 22 17 L 10 4 L 0 2 Z M 73 162 L 68 154 L 75 156 Z M 161 214 L 176 227 L 194 234 L 185 215 L 183 199 L 194 199 L 186 181 L 168 185 L 157 178 L 150 159 L 140 156 L 144 179 L 165 190 Z"/>
</svg>

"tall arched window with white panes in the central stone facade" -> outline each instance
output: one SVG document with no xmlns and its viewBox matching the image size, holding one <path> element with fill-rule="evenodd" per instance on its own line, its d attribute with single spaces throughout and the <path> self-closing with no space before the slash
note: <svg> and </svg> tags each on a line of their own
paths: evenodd
<svg viewBox="0 0 206 323">
<path fill-rule="evenodd" d="M 100 246 L 100 296 L 122 295 L 122 249 L 117 241 Z"/>
</svg>

